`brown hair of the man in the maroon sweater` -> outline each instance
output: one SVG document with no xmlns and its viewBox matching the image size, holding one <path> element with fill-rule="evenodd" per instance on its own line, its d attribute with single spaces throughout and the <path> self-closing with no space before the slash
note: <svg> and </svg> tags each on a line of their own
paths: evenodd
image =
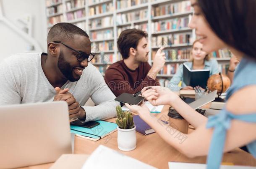
<svg viewBox="0 0 256 169">
<path fill-rule="evenodd" d="M 118 50 L 121 53 L 123 59 L 129 57 L 130 48 L 137 48 L 139 40 L 148 34 L 138 29 L 127 29 L 121 32 L 118 38 Z"/>
</svg>

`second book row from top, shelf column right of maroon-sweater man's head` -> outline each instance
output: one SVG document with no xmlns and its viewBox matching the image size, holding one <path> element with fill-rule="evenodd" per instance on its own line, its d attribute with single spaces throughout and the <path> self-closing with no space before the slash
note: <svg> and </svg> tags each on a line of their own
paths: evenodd
<svg viewBox="0 0 256 169">
<path fill-rule="evenodd" d="M 172 30 L 188 28 L 188 17 L 174 18 L 170 20 L 162 20 L 153 22 L 151 25 L 152 32 L 162 31 L 162 30 Z"/>
</svg>

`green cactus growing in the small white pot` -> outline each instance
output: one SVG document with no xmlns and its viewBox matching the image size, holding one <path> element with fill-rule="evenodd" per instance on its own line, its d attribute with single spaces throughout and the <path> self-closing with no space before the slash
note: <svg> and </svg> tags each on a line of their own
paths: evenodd
<svg viewBox="0 0 256 169">
<path fill-rule="evenodd" d="M 121 106 L 116 106 L 118 118 L 115 120 L 120 129 L 132 129 L 134 127 L 133 116 L 129 111 L 122 111 Z"/>
</svg>

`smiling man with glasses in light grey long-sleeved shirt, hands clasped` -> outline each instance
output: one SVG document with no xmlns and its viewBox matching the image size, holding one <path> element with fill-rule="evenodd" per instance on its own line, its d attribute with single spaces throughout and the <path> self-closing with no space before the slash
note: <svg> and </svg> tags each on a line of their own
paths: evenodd
<svg viewBox="0 0 256 169">
<path fill-rule="evenodd" d="M 70 119 L 114 117 L 119 103 L 97 68 L 89 64 L 93 58 L 84 30 L 71 23 L 52 26 L 47 53 L 16 54 L 0 64 L 0 105 L 66 101 Z M 96 106 L 84 106 L 89 98 Z"/>
</svg>

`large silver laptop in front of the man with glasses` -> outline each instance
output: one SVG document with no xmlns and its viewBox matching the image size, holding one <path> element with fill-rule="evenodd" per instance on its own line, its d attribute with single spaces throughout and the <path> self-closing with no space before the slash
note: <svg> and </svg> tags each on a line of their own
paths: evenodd
<svg viewBox="0 0 256 169">
<path fill-rule="evenodd" d="M 0 106 L 0 168 L 56 161 L 71 154 L 64 101 Z"/>
</svg>

